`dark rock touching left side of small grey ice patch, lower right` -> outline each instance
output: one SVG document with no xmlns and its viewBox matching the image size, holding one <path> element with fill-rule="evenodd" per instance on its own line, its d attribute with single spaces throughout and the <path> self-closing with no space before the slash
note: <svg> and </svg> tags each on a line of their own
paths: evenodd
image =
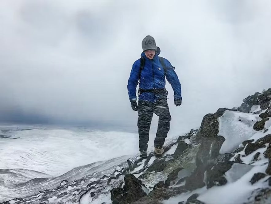
<svg viewBox="0 0 271 204">
<path fill-rule="evenodd" d="M 216 164 L 212 169 L 207 170 L 207 189 L 213 186 L 222 186 L 227 183 L 227 179 L 224 177 L 225 172 L 228 171 L 233 161 L 226 161 Z"/>
</svg>

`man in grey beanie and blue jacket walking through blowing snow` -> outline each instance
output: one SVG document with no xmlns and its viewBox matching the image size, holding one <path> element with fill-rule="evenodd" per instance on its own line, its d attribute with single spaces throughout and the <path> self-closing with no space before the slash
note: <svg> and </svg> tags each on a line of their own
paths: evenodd
<svg viewBox="0 0 271 204">
<path fill-rule="evenodd" d="M 142 49 L 141 59 L 134 62 L 130 73 L 127 85 L 128 95 L 132 109 L 138 111 L 138 144 L 141 158 L 147 157 L 149 129 L 153 113 L 159 117 L 154 140 L 154 153 L 156 157 L 161 157 L 164 152 L 162 146 L 165 143 L 171 121 L 165 78 L 174 91 L 174 103 L 176 106 L 180 106 L 182 103 L 181 84 L 174 71 L 175 67 L 165 58 L 158 57 L 160 48 L 156 46 L 153 37 L 148 35 L 142 40 Z M 140 82 L 137 106 L 136 88 L 138 80 Z"/>
</svg>

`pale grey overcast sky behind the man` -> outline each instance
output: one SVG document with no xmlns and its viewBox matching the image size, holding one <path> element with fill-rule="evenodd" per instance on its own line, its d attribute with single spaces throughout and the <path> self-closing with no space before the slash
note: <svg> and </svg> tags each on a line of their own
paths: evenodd
<svg viewBox="0 0 271 204">
<path fill-rule="evenodd" d="M 141 41 L 176 67 L 171 134 L 271 87 L 270 0 L 2 0 L 0 120 L 136 130 L 127 81 Z M 153 117 L 153 125 L 157 117 Z"/>
</svg>

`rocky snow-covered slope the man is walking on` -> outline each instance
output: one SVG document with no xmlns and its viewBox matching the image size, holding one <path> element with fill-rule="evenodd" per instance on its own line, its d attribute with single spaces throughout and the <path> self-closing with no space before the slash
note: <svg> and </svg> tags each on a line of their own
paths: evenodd
<svg viewBox="0 0 271 204">
<path fill-rule="evenodd" d="M 270 203 L 271 89 L 234 109 L 203 117 L 199 130 L 168 142 L 157 159 L 138 155 L 80 166 L 14 184 L 4 203 Z M 21 170 L 20 170 L 21 171 Z M 7 173 L 6 173 L 7 174 Z M 19 175 L 19 172 L 16 172 Z M 26 181 L 27 179 L 32 179 Z M 39 192 L 40 191 L 40 192 Z M 16 198 L 15 198 L 16 197 Z"/>
</svg>

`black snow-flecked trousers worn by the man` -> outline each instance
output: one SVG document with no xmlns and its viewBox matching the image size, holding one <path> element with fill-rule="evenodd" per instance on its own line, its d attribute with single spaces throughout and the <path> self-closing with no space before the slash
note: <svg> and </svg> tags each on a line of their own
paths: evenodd
<svg viewBox="0 0 271 204">
<path fill-rule="evenodd" d="M 171 115 L 168 109 L 166 95 L 161 96 L 157 102 L 138 101 L 138 135 L 139 135 L 139 151 L 147 151 L 149 142 L 149 130 L 153 114 L 156 114 L 158 119 L 158 127 L 156 137 L 154 139 L 155 147 L 162 147 L 165 143 L 165 138 L 168 135 L 170 128 Z"/>
</svg>

